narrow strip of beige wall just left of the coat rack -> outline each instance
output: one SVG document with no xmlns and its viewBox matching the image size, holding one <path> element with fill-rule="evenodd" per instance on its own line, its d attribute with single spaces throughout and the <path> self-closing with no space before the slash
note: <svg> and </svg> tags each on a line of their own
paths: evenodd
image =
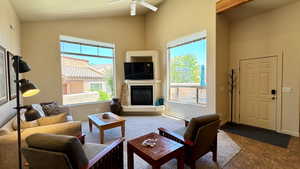
<svg viewBox="0 0 300 169">
<path fill-rule="evenodd" d="M 216 29 L 216 105 L 217 112 L 225 122 L 230 120 L 228 95 L 229 22 L 222 15 L 217 15 Z"/>
</svg>

